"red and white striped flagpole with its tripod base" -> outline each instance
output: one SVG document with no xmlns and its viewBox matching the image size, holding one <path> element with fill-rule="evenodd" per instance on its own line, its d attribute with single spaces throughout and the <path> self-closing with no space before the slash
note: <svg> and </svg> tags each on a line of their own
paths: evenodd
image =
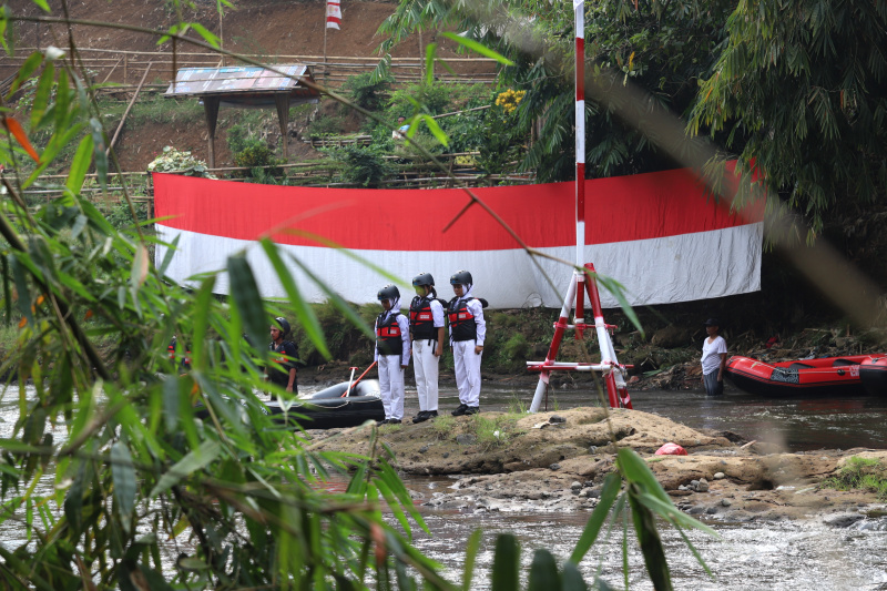
<svg viewBox="0 0 887 591">
<path fill-rule="evenodd" d="M 575 265 L 583 266 L 585 258 L 585 14 L 583 0 L 573 0 L 575 17 Z M 604 324 L 601 310 L 601 298 L 598 295 L 594 265 L 585 264 L 585 271 L 574 271 L 567 297 L 563 298 L 561 316 L 554 325 L 554 336 L 551 339 L 544 361 L 527 361 L 527 369 L 539 371 L 539 385 L 536 387 L 530 412 L 539 410 L 552 371 L 600 371 L 606 385 L 606 397 L 613 408 L 631 408 L 631 398 L 625 387 L 626 366 L 616 360 L 613 342 L 608 329 L 612 326 Z M 591 309 L 594 314 L 594 324 L 587 325 L 584 319 L 585 292 L 589 294 Z M 568 324 L 570 310 L 575 298 L 575 320 Z M 598 345 L 601 348 L 601 363 L 559 363 L 555 361 L 558 349 L 561 346 L 563 334 L 568 328 L 577 332 L 577 338 L 582 338 L 587 328 L 594 327 L 598 334 Z"/>
</svg>

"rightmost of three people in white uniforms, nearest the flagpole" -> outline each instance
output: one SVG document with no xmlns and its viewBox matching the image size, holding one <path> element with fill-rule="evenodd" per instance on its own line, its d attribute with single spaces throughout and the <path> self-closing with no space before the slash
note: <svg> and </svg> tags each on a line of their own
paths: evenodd
<svg viewBox="0 0 887 591">
<path fill-rule="evenodd" d="M 487 323 L 482 302 L 471 295 L 471 274 L 467 271 L 456 272 L 450 277 L 450 285 L 456 297 L 447 306 L 447 316 L 460 403 L 452 416 L 460 417 L 480 411 L 480 358 L 487 337 Z"/>
</svg>

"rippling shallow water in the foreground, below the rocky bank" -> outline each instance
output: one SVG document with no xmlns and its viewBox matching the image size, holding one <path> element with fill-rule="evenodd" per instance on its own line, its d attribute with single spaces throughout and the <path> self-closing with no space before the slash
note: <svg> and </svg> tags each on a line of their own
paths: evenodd
<svg viewBox="0 0 887 591">
<path fill-rule="evenodd" d="M 483 528 L 482 551 L 472 589 L 489 589 L 495 537 L 514 533 L 522 546 L 522 562 L 529 565 L 532 551 L 546 548 L 559 559 L 570 556 L 584 527 L 588 513 L 551 514 L 468 514 L 428 513 L 432 537 L 416 537 L 422 551 L 443 563 L 451 580 L 460 580 L 465 539 Z M 818 521 L 773 522 L 740 526 L 713 524 L 720 539 L 689 532 L 714 578 L 708 577 L 674 531 L 664 530 L 669 564 L 675 589 L 694 590 L 885 590 L 887 558 L 884 556 L 887 527 L 883 519 L 864 522 L 873 529 L 833 529 Z M 620 533 L 609 543 L 597 544 L 580 565 L 585 581 L 592 581 L 599 565 L 602 578 L 622 588 Z M 652 589 L 636 544 L 629 543 L 632 589 Z M 523 569 L 527 570 L 526 568 Z"/>
</svg>

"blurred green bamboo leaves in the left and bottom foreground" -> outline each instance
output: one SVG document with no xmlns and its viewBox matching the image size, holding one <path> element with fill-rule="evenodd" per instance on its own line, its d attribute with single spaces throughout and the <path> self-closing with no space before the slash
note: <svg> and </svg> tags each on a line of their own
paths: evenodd
<svg viewBox="0 0 887 591">
<path fill-rule="evenodd" d="M 42 0 L 38 4 L 48 10 Z M 176 0 L 173 4 L 180 8 Z M 220 10 L 222 4 L 227 2 L 220 0 Z M 0 35 L 9 48 L 7 22 L 0 19 Z M 215 41 L 181 18 L 167 33 L 190 29 Z M 316 452 L 303 432 L 267 415 L 255 391 L 265 386 L 263 342 L 281 304 L 262 300 L 245 253 L 192 286 L 177 285 L 165 275 L 170 261 L 155 266 L 149 255 L 155 237 L 137 225 L 119 232 L 81 195 L 93 167 L 106 186 L 108 134 L 86 78 L 73 61 L 55 68 L 50 62 L 57 59 L 50 50 L 28 57 L 13 81 L 18 88 L 40 78 L 28 114 L 31 129 L 49 134 L 42 153 L 9 113 L 9 134 L 0 137 L 4 179 L 14 181 L 6 183 L 9 198 L 0 202 L 0 305 L 7 323 L 20 318 L 1 373 L 33 384 L 18 400 L 12 432 L 0 441 L 6 508 L 0 526 L 14 520 L 27 530 L 12 542 L 17 548 L 0 544 L 3 583 L 41 591 L 470 589 L 479 534 L 467 546 L 461 585 L 411 547 L 412 528 L 427 528 L 373 426 L 364 427 L 365 457 Z M 17 192 L 41 181 L 72 145 L 64 195 L 30 211 Z M 33 170 L 22 169 L 22 159 L 31 159 Z M 172 147 L 151 169 L 205 174 L 204 164 Z M 177 246 L 177 238 L 170 246 Z M 259 246 L 305 338 L 328 355 L 322 322 L 287 266 L 307 269 L 268 240 Z M 228 298 L 214 294 L 223 272 Z M 315 283 L 329 295 L 339 323 L 346 318 L 370 340 L 366 310 L 354 310 Z M 184 370 L 166 353 L 173 336 L 191 345 Z M 61 442 L 54 440 L 57 429 L 63 431 Z M 574 564 L 611 509 L 619 522 L 626 507 L 655 588 L 670 588 L 655 518 L 706 528 L 671 505 L 634 452 L 621 449 L 618 467 L 571 561 L 559 567 L 538 552 L 528 589 L 558 582 L 561 589 L 583 589 Z M 345 491 L 318 485 L 332 473 L 349 479 Z M 52 486 L 38 486 L 44 475 Z M 615 500 L 623 485 L 625 492 Z M 383 502 L 397 528 L 383 518 Z M 520 589 L 517 540 L 502 536 L 496 548 L 492 588 Z"/>
</svg>

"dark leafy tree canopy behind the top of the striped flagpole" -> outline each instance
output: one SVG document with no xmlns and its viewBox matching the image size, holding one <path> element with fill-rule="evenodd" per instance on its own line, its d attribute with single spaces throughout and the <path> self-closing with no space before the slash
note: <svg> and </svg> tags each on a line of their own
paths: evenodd
<svg viewBox="0 0 887 591">
<path fill-rule="evenodd" d="M 677 112 L 690 108 L 697 78 L 712 65 L 721 42 L 727 2 L 611 0 L 585 4 L 585 63 L 591 75 L 618 74 L 649 93 L 633 105 L 641 115 L 651 104 Z M 527 90 L 518 109 L 521 129 L 533 135 L 526 169 L 540 181 L 573 176 L 573 12 L 570 3 L 503 0 L 482 7 L 441 0 L 402 0 L 379 32 L 390 51 L 416 30 L 448 28 L 492 47 L 514 65 L 501 71 L 503 84 Z M 672 166 L 643 133 L 623 124 L 611 106 L 585 103 L 587 171 L 590 176 L 631 174 Z"/>
</svg>

